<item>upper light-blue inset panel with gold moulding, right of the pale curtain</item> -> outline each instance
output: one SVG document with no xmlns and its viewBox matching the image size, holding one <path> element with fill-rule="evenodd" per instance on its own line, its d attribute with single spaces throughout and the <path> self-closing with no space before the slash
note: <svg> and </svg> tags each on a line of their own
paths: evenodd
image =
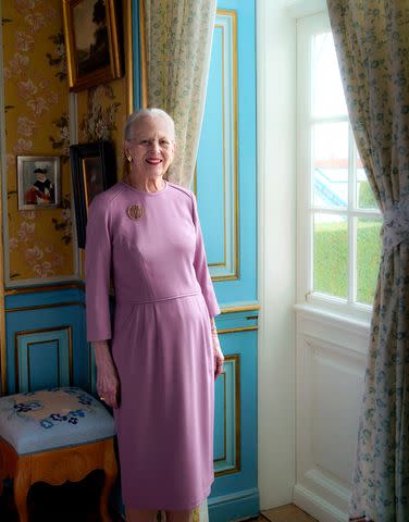
<svg viewBox="0 0 409 522">
<path fill-rule="evenodd" d="M 212 279 L 232 281 L 239 277 L 237 15 L 233 10 L 218 10 L 215 15 L 207 96 L 212 114 L 207 117 L 205 109 L 195 186 L 205 240 L 208 229 L 216 234 L 206 240 Z M 214 189 L 207 190 L 202 183 Z"/>
</svg>

